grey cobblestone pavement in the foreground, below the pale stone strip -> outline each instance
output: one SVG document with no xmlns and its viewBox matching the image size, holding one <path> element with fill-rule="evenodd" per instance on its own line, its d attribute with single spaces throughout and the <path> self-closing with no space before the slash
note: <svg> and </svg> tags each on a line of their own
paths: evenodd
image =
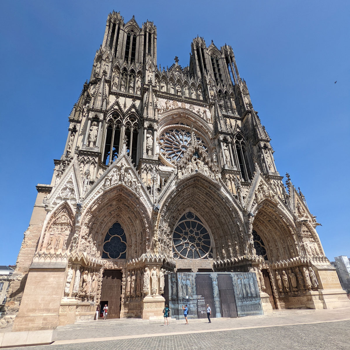
<svg viewBox="0 0 350 350">
<path fill-rule="evenodd" d="M 183 326 L 187 327 L 187 326 Z M 26 347 L 28 350 L 349 350 L 350 321 Z M 23 348 L 12 348 L 22 349 Z"/>
</svg>

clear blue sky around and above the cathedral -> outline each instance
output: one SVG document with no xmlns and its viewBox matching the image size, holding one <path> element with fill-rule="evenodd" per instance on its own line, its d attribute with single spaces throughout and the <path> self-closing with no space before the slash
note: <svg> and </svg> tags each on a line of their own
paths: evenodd
<svg viewBox="0 0 350 350">
<path fill-rule="evenodd" d="M 349 1 L 2 1 L 0 265 L 14 264 L 107 15 L 158 30 L 158 65 L 198 35 L 232 45 L 281 175 L 300 186 L 330 260 L 350 257 Z M 337 80 L 337 83 L 334 82 Z"/>
</svg>

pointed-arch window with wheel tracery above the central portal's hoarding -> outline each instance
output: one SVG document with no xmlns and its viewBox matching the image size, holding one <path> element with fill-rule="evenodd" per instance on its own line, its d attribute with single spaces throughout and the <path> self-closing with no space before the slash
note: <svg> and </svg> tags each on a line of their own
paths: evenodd
<svg viewBox="0 0 350 350">
<path fill-rule="evenodd" d="M 213 259 L 209 232 L 191 211 L 181 217 L 174 230 L 173 258 Z"/>
</svg>

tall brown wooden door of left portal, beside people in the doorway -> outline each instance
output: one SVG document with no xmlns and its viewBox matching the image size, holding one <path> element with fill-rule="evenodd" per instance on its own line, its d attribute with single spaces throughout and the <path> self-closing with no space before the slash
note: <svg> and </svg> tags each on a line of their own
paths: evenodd
<svg viewBox="0 0 350 350">
<path fill-rule="evenodd" d="M 108 318 L 120 316 L 121 278 L 120 270 L 105 270 L 102 276 L 100 300 L 107 301 Z"/>
</svg>

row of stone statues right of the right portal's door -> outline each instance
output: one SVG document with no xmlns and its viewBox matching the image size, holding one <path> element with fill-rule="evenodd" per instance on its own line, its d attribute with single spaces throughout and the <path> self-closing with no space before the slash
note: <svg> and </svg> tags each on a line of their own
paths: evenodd
<svg viewBox="0 0 350 350">
<path fill-rule="evenodd" d="M 317 277 L 311 266 L 308 269 L 306 267 L 303 267 L 302 269 L 296 268 L 296 275 L 292 269 L 289 269 L 288 271 L 289 279 L 285 270 L 283 270 L 281 274 L 278 271 L 276 271 L 275 275 L 276 275 L 278 290 L 281 293 L 283 292 L 283 287 L 285 292 L 297 291 L 298 290 L 297 280 L 299 282 L 300 290 L 304 290 L 304 289 L 311 290 L 311 289 L 318 288 Z"/>
</svg>

